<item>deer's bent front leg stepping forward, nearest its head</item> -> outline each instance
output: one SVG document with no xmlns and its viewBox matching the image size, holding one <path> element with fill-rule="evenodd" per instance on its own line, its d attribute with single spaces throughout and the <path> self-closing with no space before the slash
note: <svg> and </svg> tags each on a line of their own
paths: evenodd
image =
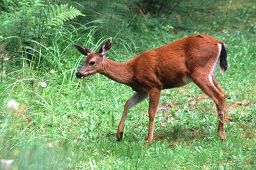
<svg viewBox="0 0 256 170">
<path fill-rule="evenodd" d="M 130 107 L 134 106 L 137 103 L 140 103 L 146 97 L 148 97 L 147 93 L 136 92 L 132 97 L 129 98 L 129 100 L 126 101 L 126 104 L 124 104 L 124 112 L 118 126 L 118 132 L 116 134 L 118 141 L 122 140 L 124 134 L 124 123 L 126 121 L 126 117 Z"/>
</svg>

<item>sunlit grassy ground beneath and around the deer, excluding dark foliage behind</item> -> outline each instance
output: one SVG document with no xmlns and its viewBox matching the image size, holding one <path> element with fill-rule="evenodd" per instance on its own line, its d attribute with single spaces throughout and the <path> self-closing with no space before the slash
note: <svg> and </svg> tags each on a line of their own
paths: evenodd
<svg viewBox="0 0 256 170">
<path fill-rule="evenodd" d="M 192 83 L 163 90 L 160 107 L 168 104 L 170 108 L 157 113 L 151 146 L 144 146 L 148 100 L 130 109 L 124 138 L 116 141 L 123 105 L 134 92 L 99 74 L 78 80 L 75 73 L 83 56 L 72 44 L 83 45 L 84 41 L 81 35 L 69 32 L 52 36 L 52 46 L 43 49 L 38 66 L 32 68 L 26 58 L 14 56 L 2 60 L 1 68 L 6 71 L 0 84 L 0 158 L 13 159 L 12 169 L 255 169 L 256 45 L 251 34 L 255 29 L 255 3 L 247 4 L 251 7 L 208 1 L 195 5 L 191 13 L 180 13 L 182 22 L 198 23 L 189 28 L 190 32 L 175 30 L 176 35 L 165 36 L 151 30 L 141 33 L 156 36 L 151 49 L 197 32 L 226 42 L 229 68 L 223 76 L 216 71 L 227 94 L 226 142 L 219 141 L 216 132 L 216 106 Z M 210 5 L 218 12 L 211 11 Z M 236 15 L 240 19 L 231 18 Z M 102 41 L 88 47 L 99 47 Z M 60 46 L 62 43 L 66 48 Z M 137 46 L 143 49 L 143 44 Z M 113 39 L 112 52 L 107 56 L 123 62 L 137 55 L 119 48 Z M 49 70 L 42 69 L 46 60 L 53 63 Z M 7 108 L 10 100 L 20 104 L 18 110 Z"/>
</svg>

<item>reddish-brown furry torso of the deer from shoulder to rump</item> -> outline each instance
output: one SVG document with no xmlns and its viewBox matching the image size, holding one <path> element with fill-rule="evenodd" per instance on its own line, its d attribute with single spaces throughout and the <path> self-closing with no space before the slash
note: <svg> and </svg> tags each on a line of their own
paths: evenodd
<svg viewBox="0 0 256 170">
<path fill-rule="evenodd" d="M 141 53 L 131 60 L 133 89 L 169 89 L 190 83 L 190 75 L 196 68 L 216 61 L 220 43 L 208 35 L 193 35 Z"/>
</svg>

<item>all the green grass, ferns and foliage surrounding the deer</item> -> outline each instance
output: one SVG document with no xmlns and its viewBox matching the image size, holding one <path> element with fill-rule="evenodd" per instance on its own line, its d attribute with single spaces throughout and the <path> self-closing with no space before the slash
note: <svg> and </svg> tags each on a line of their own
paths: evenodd
<svg viewBox="0 0 256 170">
<path fill-rule="evenodd" d="M 50 2 L 1 1 L 0 159 L 14 160 L 12 169 L 255 169 L 251 1 L 180 1 L 160 16 L 142 15 L 138 1 Z M 171 108 L 157 113 L 151 146 L 144 147 L 148 100 L 130 109 L 117 142 L 134 92 L 99 74 L 78 80 L 85 56 L 73 44 L 97 51 L 112 36 L 107 57 L 124 62 L 199 32 L 227 44 L 229 68 L 216 71 L 227 94 L 227 141 L 218 139 L 213 101 L 191 83 L 163 90 L 160 106 Z M 13 100 L 18 110 L 9 108 Z"/>
</svg>

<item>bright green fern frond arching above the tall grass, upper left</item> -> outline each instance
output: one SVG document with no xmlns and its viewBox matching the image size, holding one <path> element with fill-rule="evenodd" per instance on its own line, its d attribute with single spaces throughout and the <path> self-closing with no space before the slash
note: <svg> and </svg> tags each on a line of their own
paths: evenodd
<svg viewBox="0 0 256 170">
<path fill-rule="evenodd" d="M 63 5 L 50 5 L 48 13 L 48 23 L 46 27 L 51 29 L 51 27 L 57 27 L 63 25 L 64 22 L 76 18 L 77 16 L 85 16 L 73 6 L 68 7 L 67 4 Z"/>
</svg>

